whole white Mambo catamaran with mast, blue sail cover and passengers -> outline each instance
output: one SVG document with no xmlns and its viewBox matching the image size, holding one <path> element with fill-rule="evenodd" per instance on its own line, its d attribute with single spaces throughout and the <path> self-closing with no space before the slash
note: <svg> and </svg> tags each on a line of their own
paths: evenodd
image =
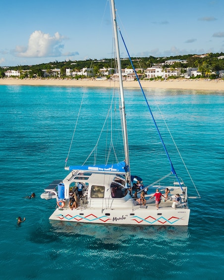
<svg viewBox="0 0 224 280">
<path fill-rule="evenodd" d="M 131 174 L 114 0 L 111 0 L 111 8 L 119 76 L 125 160 L 112 164 L 65 167 L 69 171 L 67 176 L 64 179 L 53 181 L 45 189 L 41 198 L 56 199 L 56 209 L 50 220 L 122 225 L 188 225 L 190 209 L 188 207 L 187 186 L 175 172 L 135 69 L 136 78 L 164 146 L 171 170 L 168 175 L 146 186 L 141 183 L 141 177 Z M 163 184 L 168 176 L 173 176 L 174 180 L 171 184 L 167 184 L 167 182 Z M 168 190 L 167 195 L 165 194 L 166 189 Z M 158 202 L 158 208 L 155 207 L 155 193 L 161 193 L 164 196 Z M 178 200 L 176 194 L 179 195 Z"/>
</svg>

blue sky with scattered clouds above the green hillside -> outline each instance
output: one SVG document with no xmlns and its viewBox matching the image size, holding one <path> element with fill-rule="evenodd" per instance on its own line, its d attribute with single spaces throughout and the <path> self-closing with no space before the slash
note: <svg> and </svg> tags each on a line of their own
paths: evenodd
<svg viewBox="0 0 224 280">
<path fill-rule="evenodd" d="M 224 0 L 115 5 L 131 56 L 224 52 Z M 0 19 L 1 67 L 112 57 L 109 0 L 9 0 Z M 127 57 L 123 47 L 120 52 Z"/>
</svg>

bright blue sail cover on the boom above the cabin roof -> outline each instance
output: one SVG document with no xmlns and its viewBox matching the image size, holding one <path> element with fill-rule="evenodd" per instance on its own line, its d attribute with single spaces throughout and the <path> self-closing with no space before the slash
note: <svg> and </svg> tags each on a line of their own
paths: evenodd
<svg viewBox="0 0 224 280">
<path fill-rule="evenodd" d="M 102 171 L 102 172 L 123 172 L 125 173 L 127 167 L 125 162 L 110 165 L 95 165 L 95 166 L 69 166 L 69 171 L 72 170 L 88 170 L 88 171 Z"/>
</svg>

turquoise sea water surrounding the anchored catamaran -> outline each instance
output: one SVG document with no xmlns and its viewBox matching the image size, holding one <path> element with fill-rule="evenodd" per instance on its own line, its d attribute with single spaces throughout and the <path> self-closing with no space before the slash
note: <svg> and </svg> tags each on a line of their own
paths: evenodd
<svg viewBox="0 0 224 280">
<path fill-rule="evenodd" d="M 189 200 L 188 227 L 49 220 L 55 200 L 40 195 L 67 174 L 69 151 L 68 165 L 88 157 L 111 94 L 102 88 L 0 86 L 1 279 L 223 279 L 224 92 L 146 91 L 176 173 L 190 196 L 201 196 Z M 126 90 L 126 111 L 131 170 L 152 183 L 170 170 L 139 90 Z M 82 125 L 76 125 L 78 116 Z M 27 199 L 32 192 L 37 196 Z M 26 218 L 20 225 L 19 216 Z"/>
</svg>

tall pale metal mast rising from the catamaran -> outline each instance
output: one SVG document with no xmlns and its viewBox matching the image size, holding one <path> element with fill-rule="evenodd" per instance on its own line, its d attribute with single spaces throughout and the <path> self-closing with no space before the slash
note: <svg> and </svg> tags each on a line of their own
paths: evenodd
<svg viewBox="0 0 224 280">
<path fill-rule="evenodd" d="M 129 150 L 128 150 L 128 138 L 127 138 L 127 122 L 126 122 L 126 113 L 125 113 L 125 105 L 124 105 L 124 91 L 123 91 L 123 81 L 122 81 L 122 73 L 121 73 L 121 63 L 120 63 L 120 50 L 119 50 L 119 42 L 117 35 L 117 24 L 116 24 L 116 14 L 115 14 L 115 4 L 114 0 L 111 0 L 112 6 L 112 22 L 113 22 L 113 31 L 115 37 L 115 47 L 116 47 L 116 57 L 117 57 L 117 70 L 119 75 L 119 85 L 120 85 L 120 98 L 121 98 L 121 111 L 122 111 L 122 124 L 123 124 L 123 133 L 124 133 L 124 153 L 125 153 L 125 163 L 128 166 L 128 174 L 127 179 L 130 182 L 130 167 L 129 167 Z"/>
</svg>

